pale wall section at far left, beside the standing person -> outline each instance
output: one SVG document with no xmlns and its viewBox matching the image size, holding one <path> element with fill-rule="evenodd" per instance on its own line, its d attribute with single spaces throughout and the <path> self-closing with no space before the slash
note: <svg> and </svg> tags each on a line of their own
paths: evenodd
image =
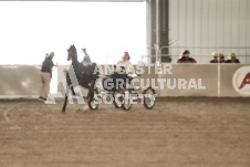
<svg viewBox="0 0 250 167">
<path fill-rule="evenodd" d="M 41 87 L 40 70 L 39 65 L 0 65 L 0 96 L 38 96 Z"/>
</svg>

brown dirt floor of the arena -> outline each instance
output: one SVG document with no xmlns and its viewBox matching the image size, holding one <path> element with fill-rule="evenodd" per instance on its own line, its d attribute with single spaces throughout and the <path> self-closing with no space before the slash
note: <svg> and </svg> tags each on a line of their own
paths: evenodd
<svg viewBox="0 0 250 167">
<path fill-rule="evenodd" d="M 250 167 L 249 98 L 62 104 L 0 101 L 0 167 Z"/>
</svg>

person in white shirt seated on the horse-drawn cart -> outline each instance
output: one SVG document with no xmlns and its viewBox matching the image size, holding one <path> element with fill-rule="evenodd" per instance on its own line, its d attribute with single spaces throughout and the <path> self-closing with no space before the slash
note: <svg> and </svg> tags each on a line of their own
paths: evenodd
<svg viewBox="0 0 250 167">
<path fill-rule="evenodd" d="M 132 72 L 132 63 L 129 62 L 129 60 L 131 60 L 131 56 L 129 56 L 128 52 L 124 52 L 123 59 L 116 63 L 117 71 L 125 70 L 125 72 L 127 74 L 131 73 Z"/>
</svg>

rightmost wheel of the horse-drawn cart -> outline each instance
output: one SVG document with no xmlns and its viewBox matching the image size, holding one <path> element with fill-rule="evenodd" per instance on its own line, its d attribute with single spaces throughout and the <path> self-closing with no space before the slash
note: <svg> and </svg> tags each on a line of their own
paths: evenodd
<svg viewBox="0 0 250 167">
<path fill-rule="evenodd" d="M 147 109 L 152 109 L 155 106 L 155 103 L 156 103 L 155 90 L 152 88 L 152 87 L 148 87 L 147 90 L 145 90 L 143 92 L 143 95 L 144 95 L 144 106 Z"/>
</svg>

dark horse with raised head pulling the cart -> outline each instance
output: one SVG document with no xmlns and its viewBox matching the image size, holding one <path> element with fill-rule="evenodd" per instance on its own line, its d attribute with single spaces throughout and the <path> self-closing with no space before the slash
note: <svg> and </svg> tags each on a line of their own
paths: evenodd
<svg viewBox="0 0 250 167">
<path fill-rule="evenodd" d="M 70 87 L 72 91 L 72 94 L 75 95 L 74 87 L 73 87 L 74 83 L 72 83 L 72 80 L 71 80 L 72 77 L 70 77 L 70 74 L 72 75 L 72 72 L 73 72 L 75 74 L 74 76 L 76 77 L 77 84 L 88 90 L 87 100 L 92 101 L 94 96 L 95 81 L 96 79 L 98 79 L 98 74 L 100 74 L 98 71 L 95 73 L 95 70 L 97 69 L 96 63 L 92 63 L 88 65 L 83 65 L 82 63 L 80 63 L 77 61 L 77 52 L 74 45 L 71 45 L 70 49 L 67 50 L 67 61 L 72 61 L 71 71 L 66 72 L 67 87 Z M 62 112 L 65 112 L 66 109 L 67 97 L 69 97 L 69 91 L 66 91 L 65 93 L 65 101 L 64 101 Z"/>
</svg>

